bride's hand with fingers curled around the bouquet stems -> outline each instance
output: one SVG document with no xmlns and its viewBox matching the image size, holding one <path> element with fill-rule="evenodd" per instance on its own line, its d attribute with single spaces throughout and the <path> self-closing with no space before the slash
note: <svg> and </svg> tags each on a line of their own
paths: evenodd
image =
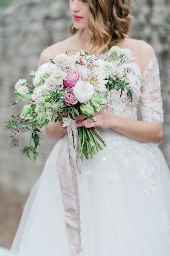
<svg viewBox="0 0 170 256">
<path fill-rule="evenodd" d="M 93 118 L 95 118 L 95 121 L 87 118 L 87 116 L 85 116 L 84 114 L 80 114 L 79 116 L 76 116 L 77 128 L 82 126 L 85 126 L 85 128 L 92 128 L 95 126 L 100 126 L 104 128 L 110 127 L 110 120 L 111 120 L 110 114 L 103 113 L 102 111 L 100 112 L 94 111 Z"/>
</svg>

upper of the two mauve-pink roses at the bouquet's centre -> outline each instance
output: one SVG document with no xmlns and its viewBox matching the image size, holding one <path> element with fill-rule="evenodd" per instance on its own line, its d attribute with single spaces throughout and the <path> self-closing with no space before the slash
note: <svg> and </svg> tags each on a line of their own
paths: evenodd
<svg viewBox="0 0 170 256">
<path fill-rule="evenodd" d="M 77 81 L 80 78 L 80 74 L 78 70 L 69 69 L 66 71 L 67 76 L 65 80 L 63 81 L 63 84 L 65 87 L 74 87 L 74 85 L 77 83 Z"/>
</svg>

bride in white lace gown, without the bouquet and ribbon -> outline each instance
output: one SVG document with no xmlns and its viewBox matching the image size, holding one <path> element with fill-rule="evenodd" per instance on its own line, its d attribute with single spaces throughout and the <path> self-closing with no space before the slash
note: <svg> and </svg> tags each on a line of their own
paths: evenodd
<svg viewBox="0 0 170 256">
<path fill-rule="evenodd" d="M 98 126 L 107 143 L 93 160 L 82 162 L 82 173 L 77 175 L 80 255 L 169 256 L 170 170 L 158 148 L 163 109 L 154 49 L 127 37 L 130 15 L 124 0 L 70 0 L 70 10 L 72 36 L 44 49 L 38 66 L 59 53 L 74 55 L 79 49 L 102 59 L 112 45 L 133 53 L 128 64 L 133 103 L 123 103 L 112 91 L 108 105 L 95 113 L 95 122 L 77 117 L 77 127 Z M 137 105 L 142 120 L 137 119 Z M 79 255 L 70 254 L 56 168 L 66 129 L 60 122 L 49 122 L 44 132 L 57 143 L 28 196 L 11 250 L 2 249 L 2 256 Z"/>
</svg>

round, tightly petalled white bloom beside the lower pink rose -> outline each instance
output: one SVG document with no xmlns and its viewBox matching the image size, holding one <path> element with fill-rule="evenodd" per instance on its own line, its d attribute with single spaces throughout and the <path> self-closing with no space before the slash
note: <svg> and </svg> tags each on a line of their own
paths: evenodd
<svg viewBox="0 0 170 256">
<path fill-rule="evenodd" d="M 89 81 L 79 80 L 73 87 L 73 93 L 79 102 L 85 103 L 93 96 L 94 87 Z"/>
</svg>

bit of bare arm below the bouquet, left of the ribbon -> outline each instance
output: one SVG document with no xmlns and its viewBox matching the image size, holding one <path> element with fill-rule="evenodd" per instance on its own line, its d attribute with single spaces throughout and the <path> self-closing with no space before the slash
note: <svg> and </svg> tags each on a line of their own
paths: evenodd
<svg viewBox="0 0 170 256">
<path fill-rule="evenodd" d="M 62 125 L 59 121 L 49 122 L 45 127 L 45 135 L 52 140 L 59 140 L 60 138 L 64 137 L 67 133 L 67 129 L 63 129 Z"/>
</svg>

